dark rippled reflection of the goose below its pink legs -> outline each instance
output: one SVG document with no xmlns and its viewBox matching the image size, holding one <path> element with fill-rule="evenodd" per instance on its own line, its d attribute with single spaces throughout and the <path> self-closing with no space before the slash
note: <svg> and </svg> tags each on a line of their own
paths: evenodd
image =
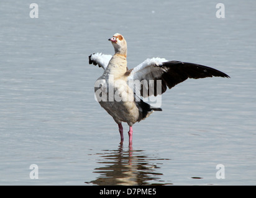
<svg viewBox="0 0 256 198">
<path fill-rule="evenodd" d="M 160 180 L 162 175 L 159 173 L 160 167 L 152 163 L 153 160 L 159 162 L 159 160 L 167 159 L 149 158 L 143 154 L 143 150 L 132 150 L 132 147 L 124 151 L 122 142 L 117 150 L 103 151 L 104 153 L 100 154 L 103 159 L 98 162 L 101 167 L 95 168 L 93 172 L 100 175 L 96 180 L 89 183 L 96 185 L 167 184 Z"/>
</svg>

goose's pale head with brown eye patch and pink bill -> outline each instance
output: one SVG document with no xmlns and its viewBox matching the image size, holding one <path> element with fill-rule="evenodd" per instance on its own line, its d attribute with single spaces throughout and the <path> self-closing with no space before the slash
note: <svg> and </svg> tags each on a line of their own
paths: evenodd
<svg viewBox="0 0 256 198">
<path fill-rule="evenodd" d="M 127 44 L 126 40 L 120 33 L 115 33 L 112 38 L 109 38 L 112 45 L 114 46 L 115 53 L 126 56 L 127 54 Z"/>
</svg>

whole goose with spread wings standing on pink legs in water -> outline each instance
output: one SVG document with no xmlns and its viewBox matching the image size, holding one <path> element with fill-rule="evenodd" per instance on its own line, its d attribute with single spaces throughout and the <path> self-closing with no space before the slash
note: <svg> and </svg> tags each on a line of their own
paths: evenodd
<svg viewBox="0 0 256 198">
<path fill-rule="evenodd" d="M 103 75 L 94 84 L 94 95 L 101 107 L 117 123 L 121 142 L 124 141 L 122 122 L 129 125 L 129 145 L 132 145 L 133 124 L 147 118 L 153 111 L 162 111 L 161 108 L 145 103 L 143 98 L 162 95 L 167 88 L 170 89 L 189 78 L 229 78 L 224 72 L 208 66 L 168 61 L 164 58 L 146 59 L 134 69 L 128 69 L 127 43 L 124 37 L 115 33 L 109 41 L 114 46 L 113 56 L 103 53 L 89 56 L 89 64 L 104 69 Z"/>
</svg>

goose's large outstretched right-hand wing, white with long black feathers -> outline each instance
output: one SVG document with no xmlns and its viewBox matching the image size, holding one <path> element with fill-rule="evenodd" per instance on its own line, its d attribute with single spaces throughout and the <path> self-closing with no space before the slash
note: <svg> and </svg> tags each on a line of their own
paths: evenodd
<svg viewBox="0 0 256 198">
<path fill-rule="evenodd" d="M 206 77 L 229 77 L 217 69 L 181 61 L 167 61 L 162 58 L 147 59 L 134 69 L 127 71 L 127 80 L 140 81 L 140 95 L 160 95 L 168 88 L 190 79 Z M 137 92 L 136 88 L 136 93 Z"/>
</svg>

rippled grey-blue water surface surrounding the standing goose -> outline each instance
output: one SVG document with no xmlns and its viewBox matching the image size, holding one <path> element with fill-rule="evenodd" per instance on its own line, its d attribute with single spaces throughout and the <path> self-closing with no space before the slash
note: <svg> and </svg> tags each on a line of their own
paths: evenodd
<svg viewBox="0 0 256 198">
<path fill-rule="evenodd" d="M 256 184 L 255 1 L 221 1 L 225 19 L 219 1 L 34 1 L 30 19 L 32 2 L 0 3 L 1 185 Z M 114 53 L 116 32 L 129 68 L 159 56 L 231 79 L 176 85 L 162 112 L 134 125 L 133 147 L 126 132 L 121 145 L 94 100 L 103 70 L 88 64 L 91 53 Z"/>
</svg>

